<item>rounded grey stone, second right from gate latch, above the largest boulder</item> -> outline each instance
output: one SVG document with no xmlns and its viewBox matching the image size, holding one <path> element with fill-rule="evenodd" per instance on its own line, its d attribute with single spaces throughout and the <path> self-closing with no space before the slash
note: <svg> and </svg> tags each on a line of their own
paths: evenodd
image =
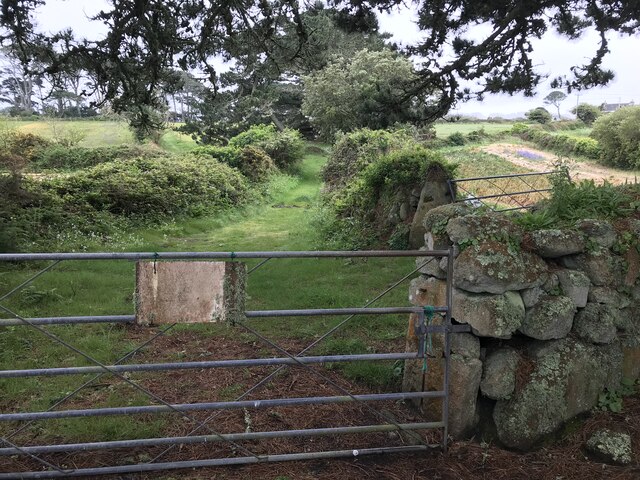
<svg viewBox="0 0 640 480">
<path fill-rule="evenodd" d="M 566 337 L 571 331 L 576 307 L 569 297 L 545 296 L 533 308 L 527 310 L 520 332 L 537 340 Z"/>
</svg>

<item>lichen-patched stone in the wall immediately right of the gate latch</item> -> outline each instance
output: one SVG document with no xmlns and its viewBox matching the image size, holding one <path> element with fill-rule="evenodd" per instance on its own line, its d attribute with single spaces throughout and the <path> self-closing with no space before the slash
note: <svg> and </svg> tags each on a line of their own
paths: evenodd
<svg viewBox="0 0 640 480">
<path fill-rule="evenodd" d="M 524 304 L 518 292 L 502 295 L 473 294 L 454 290 L 451 315 L 471 325 L 480 337 L 511 338 L 524 320 Z"/>
</svg>

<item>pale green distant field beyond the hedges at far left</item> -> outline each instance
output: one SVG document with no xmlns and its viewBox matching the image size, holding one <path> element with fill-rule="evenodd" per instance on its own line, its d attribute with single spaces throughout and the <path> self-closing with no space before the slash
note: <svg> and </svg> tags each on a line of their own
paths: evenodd
<svg viewBox="0 0 640 480">
<path fill-rule="evenodd" d="M 126 122 L 118 121 L 47 121 L 38 122 L 4 120 L 1 122 L 4 128 L 17 128 L 22 132 L 33 133 L 45 138 L 56 138 L 78 133 L 84 138 L 79 145 L 84 147 L 99 147 L 106 145 L 122 145 L 133 143 L 133 134 Z M 188 136 L 172 130 L 162 137 L 160 144 L 170 152 L 181 152 L 195 145 Z"/>
</svg>

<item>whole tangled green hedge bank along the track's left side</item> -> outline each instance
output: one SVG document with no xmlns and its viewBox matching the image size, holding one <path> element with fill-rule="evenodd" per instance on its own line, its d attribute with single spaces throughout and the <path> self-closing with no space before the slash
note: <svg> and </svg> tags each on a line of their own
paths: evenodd
<svg viewBox="0 0 640 480">
<path fill-rule="evenodd" d="M 297 132 L 269 126 L 232 139 L 229 147 L 182 154 L 155 146 L 69 147 L 14 130 L 0 142 L 3 251 L 48 250 L 67 232 L 107 239 L 175 216 L 244 206 L 267 193 L 260 185 L 278 171 L 258 145 L 287 169 L 304 149 Z"/>
</svg>

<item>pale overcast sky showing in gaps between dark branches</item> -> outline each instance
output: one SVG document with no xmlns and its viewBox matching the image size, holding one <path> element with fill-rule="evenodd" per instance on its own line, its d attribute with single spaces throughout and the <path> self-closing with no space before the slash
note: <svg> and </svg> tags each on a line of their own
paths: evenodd
<svg viewBox="0 0 640 480">
<path fill-rule="evenodd" d="M 95 15 L 101 8 L 109 8 L 104 0 L 48 0 L 38 10 L 37 21 L 44 31 L 59 31 L 73 28 L 79 36 L 96 39 L 105 33 L 105 27 L 98 22 L 89 22 L 88 16 Z M 393 35 L 392 40 L 401 44 L 413 42 L 420 38 L 415 16 L 410 9 L 404 8 L 390 14 L 380 16 L 383 31 Z M 609 48 L 611 53 L 605 59 L 605 67 L 616 73 L 616 78 L 609 86 L 580 92 L 579 101 L 599 105 L 603 102 L 618 103 L 634 100 L 640 103 L 640 36 L 621 37 L 610 34 Z M 579 40 L 569 41 L 553 32 L 533 42 L 534 63 L 540 73 L 550 78 L 568 74 L 569 67 L 576 63 L 585 63 L 597 48 L 597 36 L 589 34 Z M 581 62 L 582 60 L 582 62 Z M 460 104 L 457 111 L 462 114 L 513 115 L 541 106 L 542 98 L 551 91 L 549 82 L 538 88 L 538 95 L 525 98 L 523 95 L 492 95 L 483 102 L 467 102 Z M 561 105 L 565 113 L 575 106 L 578 100 L 572 94 Z"/>
</svg>

